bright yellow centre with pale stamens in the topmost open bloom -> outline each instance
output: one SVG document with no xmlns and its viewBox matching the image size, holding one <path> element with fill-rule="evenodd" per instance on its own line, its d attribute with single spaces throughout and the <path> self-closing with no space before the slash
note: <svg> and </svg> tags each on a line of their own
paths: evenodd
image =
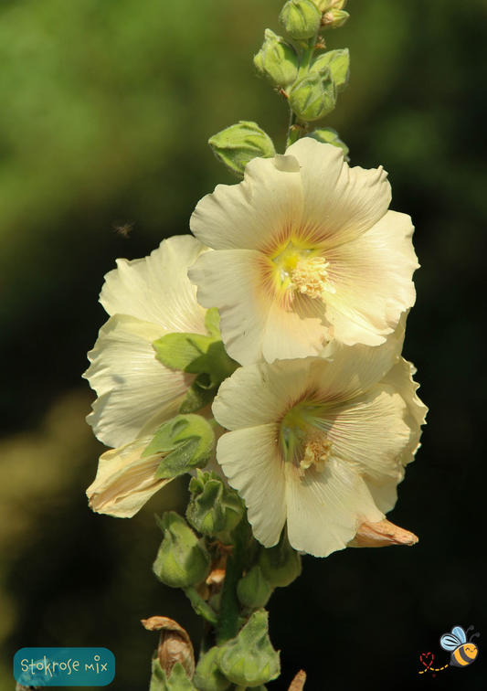
<svg viewBox="0 0 487 691">
<path fill-rule="evenodd" d="M 316 250 L 300 249 L 289 242 L 273 262 L 285 290 L 303 292 L 312 298 L 322 297 L 325 291 L 335 292 L 326 271 L 330 262 L 317 255 Z"/>
</svg>

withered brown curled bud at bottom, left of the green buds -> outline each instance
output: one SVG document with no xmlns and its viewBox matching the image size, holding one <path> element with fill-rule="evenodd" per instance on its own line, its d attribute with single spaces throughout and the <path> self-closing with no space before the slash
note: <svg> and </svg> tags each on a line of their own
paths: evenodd
<svg viewBox="0 0 487 691">
<path fill-rule="evenodd" d="M 161 632 L 157 659 L 167 678 L 171 676 L 175 664 L 181 663 L 188 679 L 192 679 L 195 674 L 195 653 L 185 629 L 167 617 L 151 617 L 142 622 L 148 631 Z"/>
</svg>

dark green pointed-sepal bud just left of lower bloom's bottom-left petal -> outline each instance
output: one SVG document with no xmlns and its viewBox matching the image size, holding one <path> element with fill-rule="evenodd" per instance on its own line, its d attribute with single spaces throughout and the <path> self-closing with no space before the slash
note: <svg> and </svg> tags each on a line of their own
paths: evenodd
<svg viewBox="0 0 487 691">
<path fill-rule="evenodd" d="M 189 484 L 192 497 L 186 518 L 204 535 L 229 533 L 243 516 L 245 505 L 235 490 L 226 487 L 214 473 L 197 472 Z"/>
</svg>

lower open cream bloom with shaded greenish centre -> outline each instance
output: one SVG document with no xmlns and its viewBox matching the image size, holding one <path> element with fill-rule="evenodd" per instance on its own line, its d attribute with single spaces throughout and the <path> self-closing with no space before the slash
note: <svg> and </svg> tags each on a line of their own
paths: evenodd
<svg viewBox="0 0 487 691">
<path fill-rule="evenodd" d="M 287 523 L 291 547 L 326 557 L 395 505 L 426 413 L 402 337 L 241 367 L 219 388 L 217 460 L 264 547 Z"/>
</svg>

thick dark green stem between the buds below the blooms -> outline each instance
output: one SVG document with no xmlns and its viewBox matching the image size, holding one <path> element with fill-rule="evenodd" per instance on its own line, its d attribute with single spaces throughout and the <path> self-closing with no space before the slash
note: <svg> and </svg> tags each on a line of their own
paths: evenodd
<svg viewBox="0 0 487 691">
<path fill-rule="evenodd" d="M 240 603 L 237 597 L 238 581 L 242 578 L 247 551 L 249 524 L 244 516 L 232 531 L 233 548 L 227 558 L 225 580 L 221 594 L 220 612 L 217 622 L 217 644 L 222 645 L 235 638 L 240 628 Z"/>
</svg>

